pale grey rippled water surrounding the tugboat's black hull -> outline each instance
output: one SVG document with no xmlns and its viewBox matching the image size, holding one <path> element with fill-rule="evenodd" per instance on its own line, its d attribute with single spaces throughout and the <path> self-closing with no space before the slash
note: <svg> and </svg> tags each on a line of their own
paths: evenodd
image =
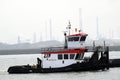
<svg viewBox="0 0 120 80">
<path fill-rule="evenodd" d="M 120 68 L 110 68 L 107 71 L 64 73 L 7 73 L 9 66 L 36 64 L 37 57 L 40 57 L 40 54 L 0 55 L 0 80 L 120 80 Z M 120 52 L 110 52 L 110 58 L 120 58 Z"/>
</svg>

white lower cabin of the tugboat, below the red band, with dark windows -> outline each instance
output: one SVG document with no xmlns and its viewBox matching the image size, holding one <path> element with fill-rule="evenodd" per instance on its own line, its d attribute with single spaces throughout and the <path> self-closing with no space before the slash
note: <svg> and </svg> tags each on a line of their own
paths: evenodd
<svg viewBox="0 0 120 80">
<path fill-rule="evenodd" d="M 42 58 L 42 68 L 60 68 L 83 61 L 84 53 L 53 53 L 44 54 Z"/>
</svg>

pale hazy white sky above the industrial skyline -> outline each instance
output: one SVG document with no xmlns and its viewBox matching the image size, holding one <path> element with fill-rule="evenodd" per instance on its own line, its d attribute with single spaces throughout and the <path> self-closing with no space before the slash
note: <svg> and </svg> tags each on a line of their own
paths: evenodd
<svg viewBox="0 0 120 80">
<path fill-rule="evenodd" d="M 102 37 L 120 37 L 120 0 L 0 0 L 0 42 L 63 40 L 68 21 L 79 28 L 79 8 L 82 9 L 83 31 L 96 38 L 96 17 Z M 47 35 L 47 39 L 46 39 Z"/>
</svg>

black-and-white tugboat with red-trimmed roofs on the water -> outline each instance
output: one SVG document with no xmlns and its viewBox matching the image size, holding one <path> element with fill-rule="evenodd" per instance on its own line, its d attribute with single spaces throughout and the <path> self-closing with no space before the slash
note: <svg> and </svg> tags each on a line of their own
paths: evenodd
<svg viewBox="0 0 120 80">
<path fill-rule="evenodd" d="M 69 29 L 71 27 L 69 22 Z M 41 49 L 41 58 L 37 58 L 36 65 L 11 66 L 8 73 L 51 73 L 87 70 L 109 69 L 108 47 L 95 47 L 88 51 L 85 47 L 86 33 L 64 33 L 64 47 L 50 47 Z M 91 57 L 85 57 L 92 52 Z"/>
</svg>

